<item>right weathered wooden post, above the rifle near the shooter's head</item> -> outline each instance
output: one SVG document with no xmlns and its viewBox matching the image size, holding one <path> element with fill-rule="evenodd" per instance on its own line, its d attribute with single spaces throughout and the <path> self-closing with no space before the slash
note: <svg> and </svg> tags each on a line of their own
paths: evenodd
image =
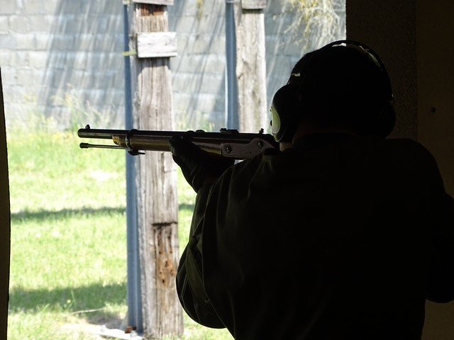
<svg viewBox="0 0 454 340">
<path fill-rule="evenodd" d="M 265 21 L 266 0 L 242 0 L 235 4 L 236 78 L 238 120 L 243 132 L 268 128 Z"/>
</svg>

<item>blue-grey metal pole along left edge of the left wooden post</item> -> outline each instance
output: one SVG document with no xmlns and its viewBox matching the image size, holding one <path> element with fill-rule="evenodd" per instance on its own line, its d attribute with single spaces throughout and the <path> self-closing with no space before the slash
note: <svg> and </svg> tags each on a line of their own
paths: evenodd
<svg viewBox="0 0 454 340">
<path fill-rule="evenodd" d="M 129 50 L 128 2 L 123 1 L 123 34 L 125 50 L 125 128 L 133 128 L 131 94 L 131 62 Z M 140 299 L 140 262 L 138 250 L 137 196 L 135 194 L 135 157 L 126 153 L 126 242 L 128 249 L 128 326 L 143 332 L 142 300 Z"/>
</svg>

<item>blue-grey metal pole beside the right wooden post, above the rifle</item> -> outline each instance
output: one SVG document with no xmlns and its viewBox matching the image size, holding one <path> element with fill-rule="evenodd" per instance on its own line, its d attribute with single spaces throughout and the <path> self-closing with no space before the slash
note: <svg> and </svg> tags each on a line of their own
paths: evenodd
<svg viewBox="0 0 454 340">
<path fill-rule="evenodd" d="M 226 0 L 226 125 L 229 129 L 238 130 L 234 2 L 235 0 Z"/>
</svg>

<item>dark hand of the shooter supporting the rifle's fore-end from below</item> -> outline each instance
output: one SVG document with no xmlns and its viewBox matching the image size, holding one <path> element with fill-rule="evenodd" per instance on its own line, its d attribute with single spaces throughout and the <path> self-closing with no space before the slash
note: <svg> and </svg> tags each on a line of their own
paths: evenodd
<svg viewBox="0 0 454 340">
<path fill-rule="evenodd" d="M 186 137 L 172 137 L 170 151 L 173 160 L 182 169 L 187 183 L 196 192 L 201 186 L 214 183 L 235 162 L 234 159 L 205 152 Z"/>
</svg>

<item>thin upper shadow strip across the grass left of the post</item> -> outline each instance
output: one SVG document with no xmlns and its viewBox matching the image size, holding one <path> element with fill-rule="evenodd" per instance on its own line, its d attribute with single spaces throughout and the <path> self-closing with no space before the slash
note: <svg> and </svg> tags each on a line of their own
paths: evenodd
<svg viewBox="0 0 454 340">
<path fill-rule="evenodd" d="M 21 211 L 11 214 L 11 222 L 21 222 L 23 220 L 60 220 L 68 217 L 83 216 L 100 216 L 116 215 L 126 213 L 125 207 L 103 207 L 103 208 L 79 208 L 79 209 L 62 209 L 62 210 L 38 210 L 38 211 Z"/>
</svg>

